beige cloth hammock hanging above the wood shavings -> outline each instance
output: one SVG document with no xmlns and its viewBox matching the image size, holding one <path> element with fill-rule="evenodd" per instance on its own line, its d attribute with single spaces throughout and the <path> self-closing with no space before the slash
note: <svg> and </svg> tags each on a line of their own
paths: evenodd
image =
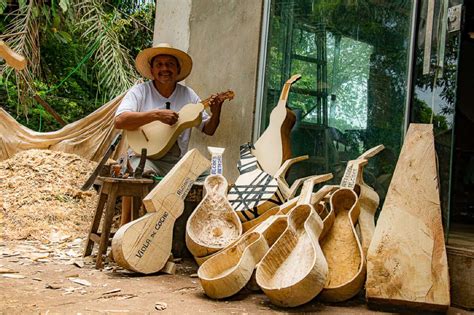
<svg viewBox="0 0 474 315">
<path fill-rule="evenodd" d="M 114 128 L 114 116 L 124 95 L 102 105 L 90 115 L 52 132 L 28 129 L 0 108 L 0 161 L 29 149 L 73 153 L 99 161 L 115 135 L 121 132 Z M 127 147 L 126 141 L 122 140 L 113 157 L 117 158 Z"/>
</svg>

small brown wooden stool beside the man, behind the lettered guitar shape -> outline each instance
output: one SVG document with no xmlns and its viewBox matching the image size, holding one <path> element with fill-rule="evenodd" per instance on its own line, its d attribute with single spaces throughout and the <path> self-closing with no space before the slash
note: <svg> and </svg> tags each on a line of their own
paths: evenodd
<svg viewBox="0 0 474 315">
<path fill-rule="evenodd" d="M 132 220 L 138 218 L 138 210 L 141 206 L 143 198 L 148 195 L 150 188 L 154 181 L 151 179 L 135 179 L 135 178 L 113 178 L 113 177 L 98 177 L 98 181 L 102 182 L 99 191 L 99 201 L 97 202 L 97 209 L 95 210 L 94 220 L 92 221 L 87 244 L 84 248 L 84 257 L 92 254 L 94 243 L 99 244 L 99 252 L 95 267 L 97 269 L 103 266 L 103 255 L 107 253 L 109 246 L 110 228 L 115 213 L 115 203 L 117 198 L 122 196 L 130 196 L 132 202 Z M 133 198 L 135 197 L 135 198 Z M 102 213 L 105 216 L 102 223 L 102 230 L 99 233 L 100 220 Z"/>
</svg>

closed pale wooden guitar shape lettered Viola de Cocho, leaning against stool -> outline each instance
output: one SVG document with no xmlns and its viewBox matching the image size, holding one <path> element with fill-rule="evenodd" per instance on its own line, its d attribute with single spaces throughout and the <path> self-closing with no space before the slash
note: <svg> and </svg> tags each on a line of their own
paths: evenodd
<svg viewBox="0 0 474 315">
<path fill-rule="evenodd" d="M 163 268 L 171 253 L 174 222 L 184 210 L 184 198 L 209 166 L 209 160 L 192 149 L 143 199 L 148 213 L 120 227 L 112 240 L 119 266 L 145 274 Z"/>
</svg>

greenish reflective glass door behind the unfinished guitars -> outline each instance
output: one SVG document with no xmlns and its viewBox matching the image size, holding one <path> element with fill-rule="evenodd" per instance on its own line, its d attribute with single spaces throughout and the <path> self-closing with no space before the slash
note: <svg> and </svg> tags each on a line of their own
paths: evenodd
<svg viewBox="0 0 474 315">
<path fill-rule="evenodd" d="M 332 172 L 379 144 L 366 182 L 383 199 L 406 122 L 413 1 L 271 0 L 260 132 L 268 126 L 283 83 L 297 114 L 293 156 L 310 159 L 291 178 Z"/>
</svg>

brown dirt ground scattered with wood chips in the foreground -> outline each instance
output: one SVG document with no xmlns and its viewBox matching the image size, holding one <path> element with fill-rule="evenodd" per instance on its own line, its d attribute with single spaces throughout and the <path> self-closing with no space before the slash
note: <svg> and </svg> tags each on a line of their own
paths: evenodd
<svg viewBox="0 0 474 315">
<path fill-rule="evenodd" d="M 196 314 L 196 313 L 323 313 L 371 314 L 362 296 L 344 304 L 312 301 L 281 309 L 262 292 L 242 290 L 223 301 L 207 298 L 197 266 L 176 259 L 175 275 L 143 276 L 113 263 L 96 270 L 92 258 L 82 259 L 82 240 L 45 245 L 38 241 L 0 244 L 0 314 Z M 448 314 L 464 314 L 451 308 Z M 467 314 L 467 313 L 466 313 Z"/>
</svg>

